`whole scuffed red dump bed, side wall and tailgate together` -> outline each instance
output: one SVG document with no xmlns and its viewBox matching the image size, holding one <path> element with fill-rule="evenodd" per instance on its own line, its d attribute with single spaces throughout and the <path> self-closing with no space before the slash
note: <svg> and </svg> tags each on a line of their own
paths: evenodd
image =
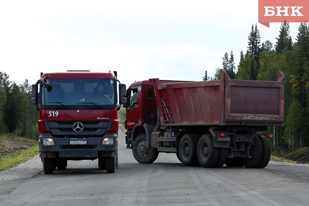
<svg viewBox="0 0 309 206">
<path fill-rule="evenodd" d="M 220 80 L 161 84 L 153 79 L 162 125 L 280 126 L 284 75 L 278 81 Z"/>
</svg>

